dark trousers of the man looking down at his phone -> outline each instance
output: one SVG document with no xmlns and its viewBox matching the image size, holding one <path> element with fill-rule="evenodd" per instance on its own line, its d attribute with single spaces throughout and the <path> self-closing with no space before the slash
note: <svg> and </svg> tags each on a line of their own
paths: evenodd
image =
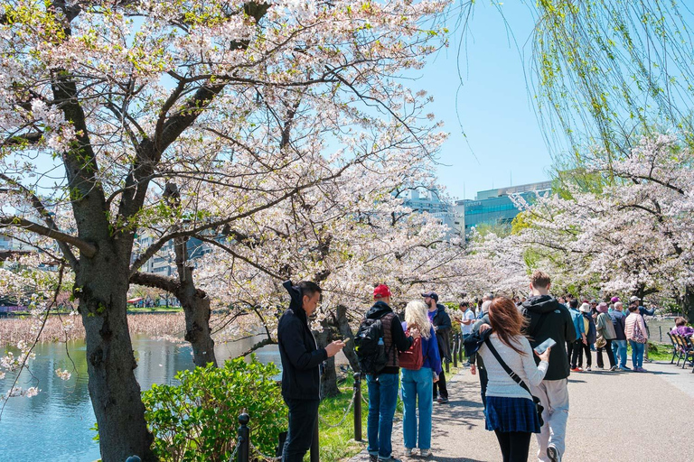
<svg viewBox="0 0 694 462">
<path fill-rule="evenodd" d="M 282 462 L 302 462 L 314 439 L 319 400 L 285 400 L 289 407 L 289 431 L 286 434 Z"/>
</svg>

